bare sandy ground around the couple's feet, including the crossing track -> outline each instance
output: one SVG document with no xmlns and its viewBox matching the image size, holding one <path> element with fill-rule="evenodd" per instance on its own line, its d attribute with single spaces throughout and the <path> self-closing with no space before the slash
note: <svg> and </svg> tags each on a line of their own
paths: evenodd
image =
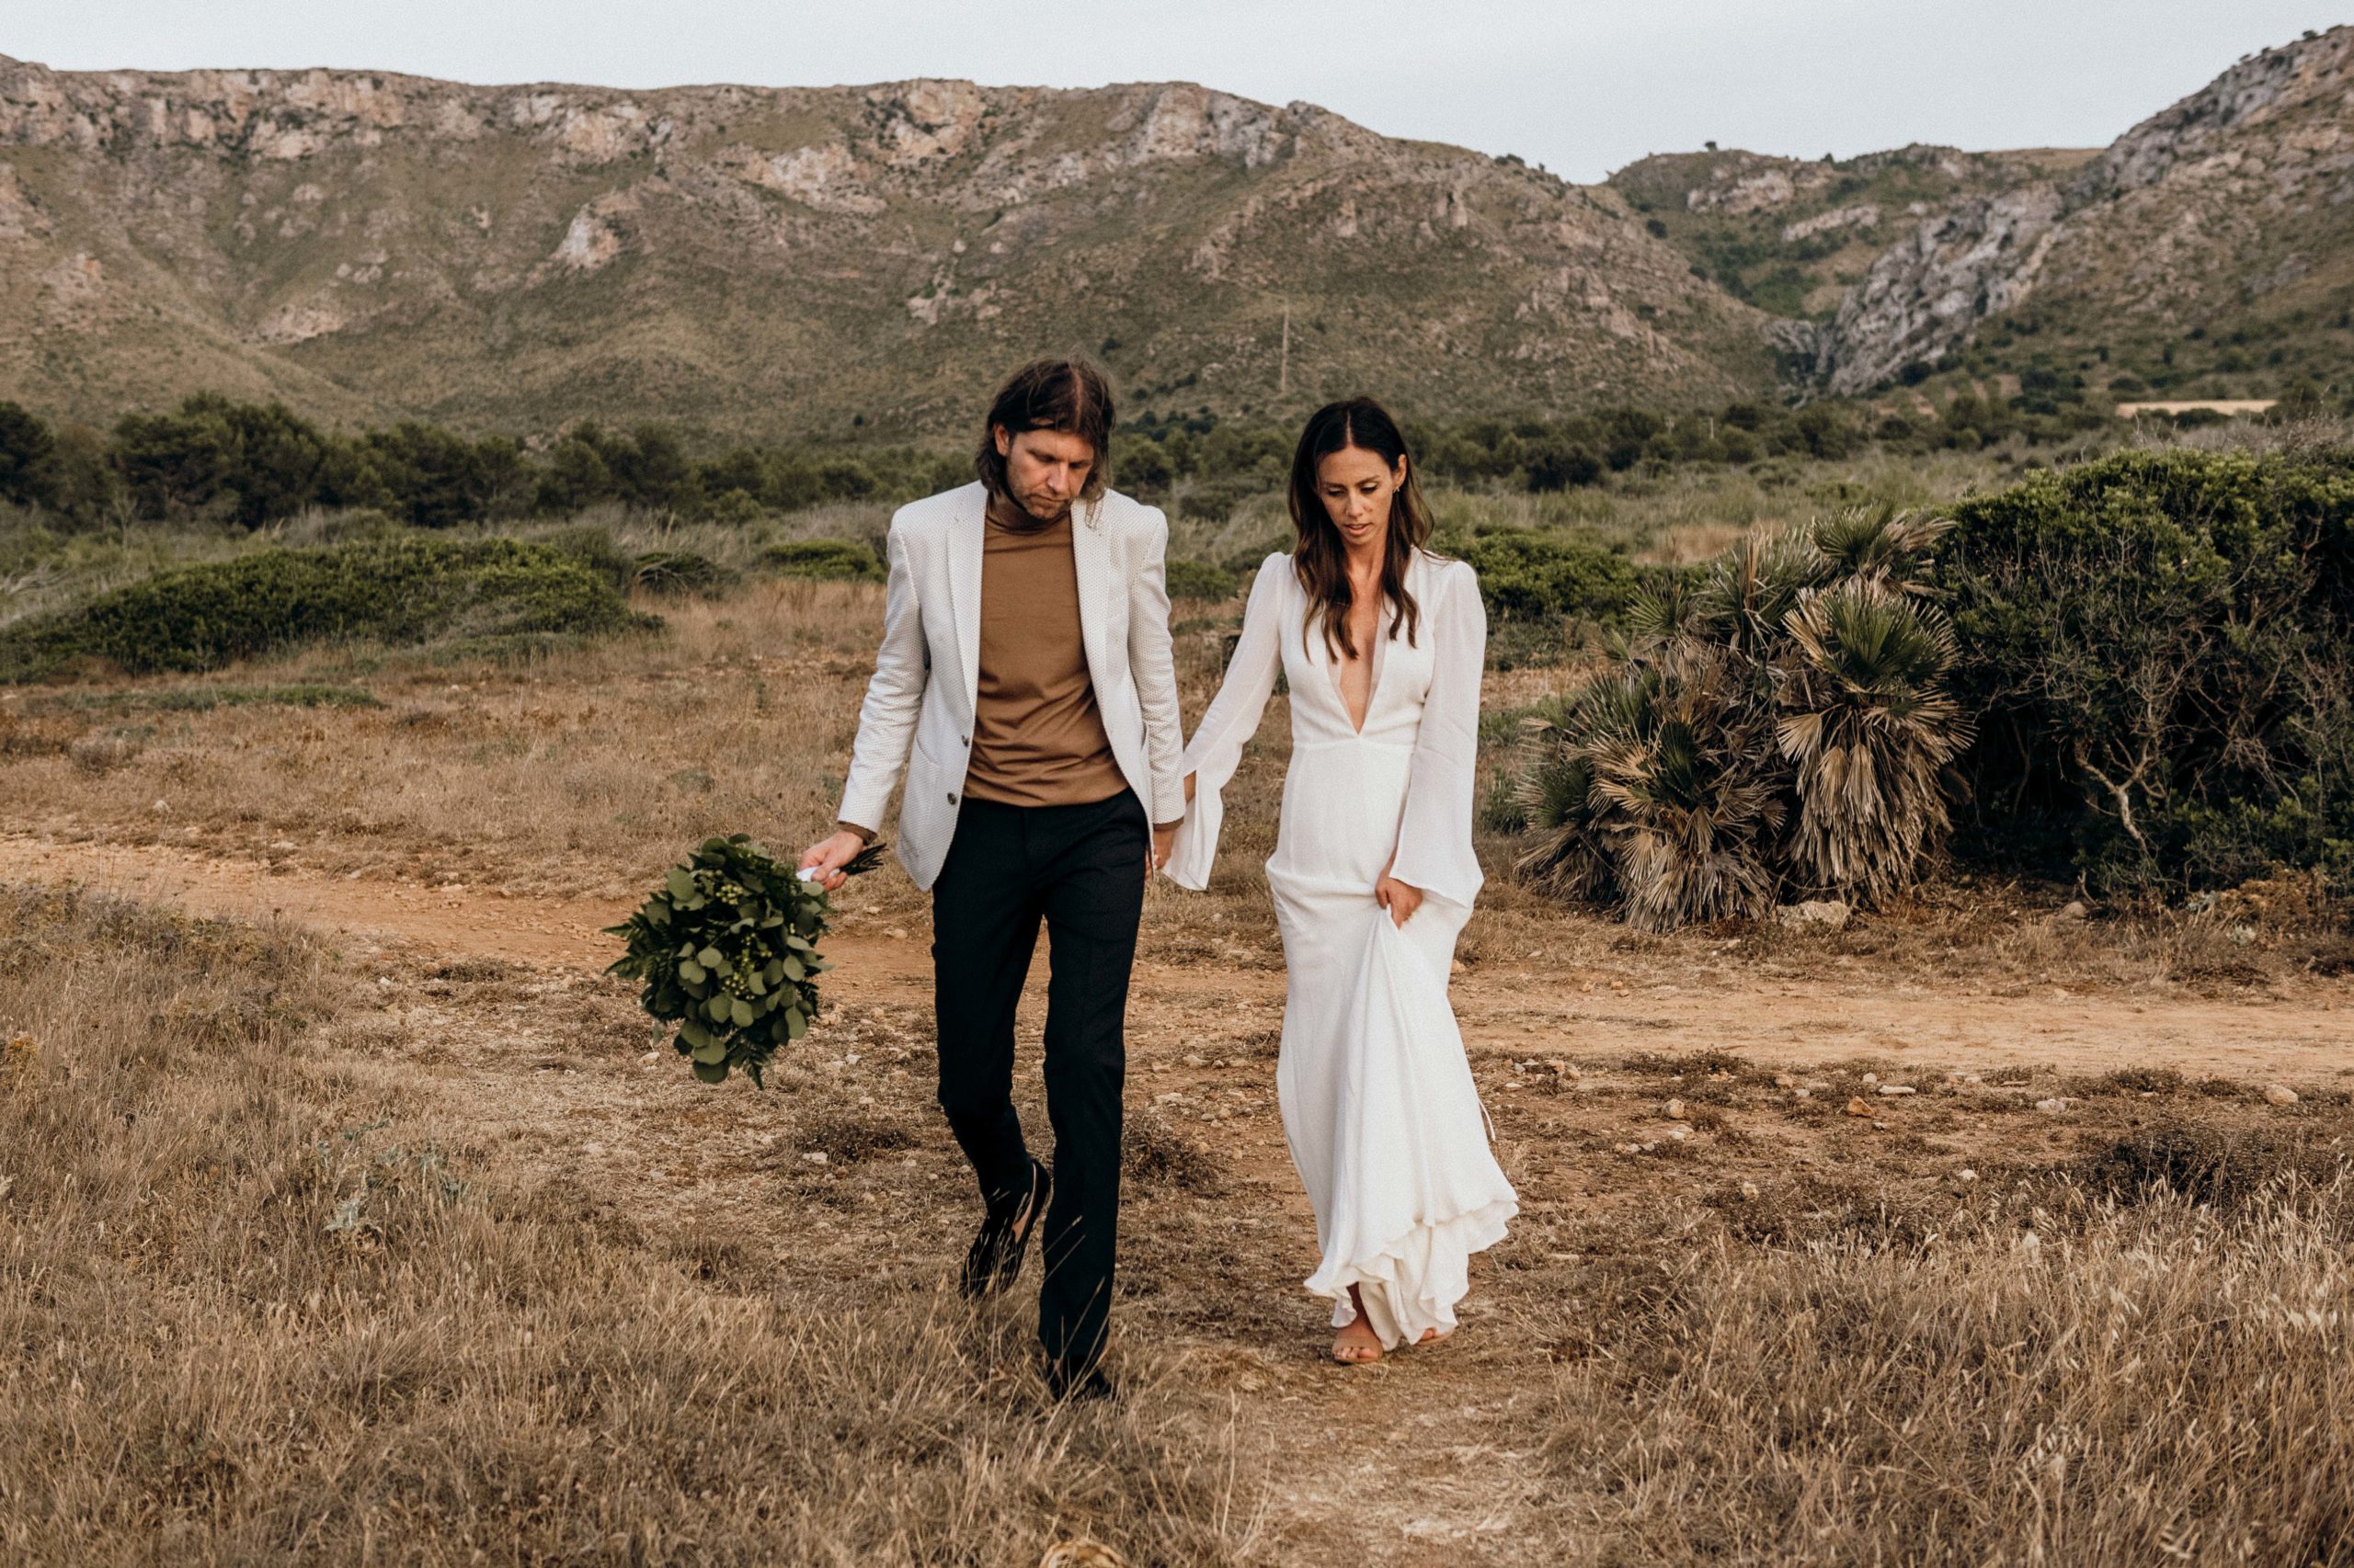
<svg viewBox="0 0 2354 1568">
<path fill-rule="evenodd" d="M 829 942 L 836 1012 L 791 1069 L 833 1104 L 871 1107 L 920 1137 L 880 1158 L 819 1165 L 807 1149 L 814 1095 L 704 1090 L 669 1052 L 645 1059 L 629 989 L 600 975 L 612 939 L 598 928 L 619 921 L 621 904 L 26 833 L 0 836 L 0 878 L 73 881 L 334 935 L 346 963 L 381 975 L 384 1012 L 351 1036 L 355 1055 L 386 1057 L 386 1071 L 426 1085 L 445 1118 L 504 1158 L 614 1194 L 640 1222 L 676 1220 L 749 1245 L 751 1288 L 814 1302 L 826 1281 L 847 1278 L 937 1290 L 963 1250 L 970 1194 L 930 1111 L 920 918 L 845 921 Z M 1043 970 L 1033 968 L 1033 994 Z M 1561 1302 L 1572 1260 L 1674 1255 L 1711 1208 L 1740 1212 L 1744 1187 L 1777 1212 L 1820 1217 L 1857 1194 L 1935 1198 L 1966 1180 L 1963 1168 L 1991 1177 L 2064 1163 L 2161 1109 L 2147 1090 L 2093 1083 L 2116 1069 L 2300 1090 L 2290 1111 L 2253 1088 L 2203 1102 L 2248 1121 L 2345 1118 L 2354 1078 L 2345 979 L 2288 998 L 2149 1001 L 2057 986 L 1937 991 L 1836 965 L 1798 982 L 1737 965 L 1676 975 L 1662 982 L 1641 954 L 1612 954 L 1577 972 L 1481 963 L 1457 977 L 1474 1071 L 1523 1215 L 1511 1241 L 1481 1260 L 1452 1342 L 1344 1370 L 1323 1356 L 1330 1330 L 1318 1304 L 1292 1283 L 1314 1267 L 1314 1227 L 1274 1097 L 1281 970 L 1139 965 L 1132 1121 L 1201 1149 L 1217 1177 L 1132 1184 L 1118 1356 L 1179 1358 L 1189 1382 L 1215 1389 L 1252 1436 L 1264 1469 L 1243 1481 L 1266 1483 L 1266 1561 L 1580 1554 L 1591 1497 L 1530 1443 L 1544 1431 L 1554 1370 L 1580 1354 L 1575 1314 Z M 513 1001 L 518 984 L 539 1001 Z M 1024 1109 L 1038 1128 L 1040 1003 L 1033 996 L 1024 1010 Z M 1700 1052 L 1723 1055 L 1695 1062 Z M 1791 1081 L 1770 1076 L 1782 1069 Z M 1919 1092 L 1881 1097 L 1881 1083 Z M 1667 1111 L 1671 1097 L 1690 1102 L 1681 1118 Z M 2067 1109 L 2034 1109 L 2053 1097 Z M 779 1191 L 805 1203 L 777 1203 Z M 1681 1224 L 1662 1220 L 1678 1210 Z"/>
</svg>

